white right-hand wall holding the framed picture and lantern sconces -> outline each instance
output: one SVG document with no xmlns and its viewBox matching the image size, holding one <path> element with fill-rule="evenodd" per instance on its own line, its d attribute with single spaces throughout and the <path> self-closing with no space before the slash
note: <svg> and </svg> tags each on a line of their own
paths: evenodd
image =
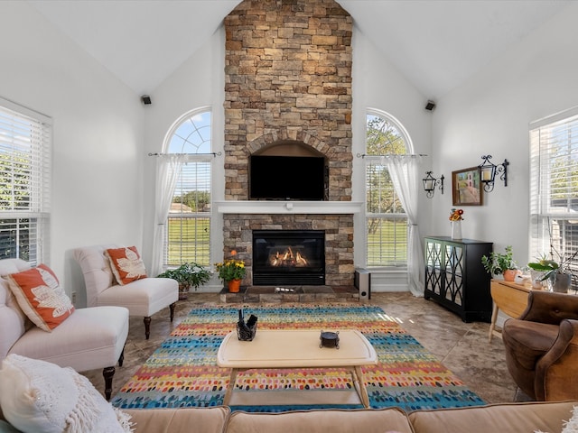
<svg viewBox="0 0 578 433">
<path fill-rule="evenodd" d="M 536 32 L 509 49 L 461 88 L 441 98 L 433 114 L 436 174 L 450 180 L 452 170 L 481 163 L 491 154 L 508 166 L 508 187 L 498 181 L 481 207 L 463 207 L 464 237 L 494 243 L 494 251 L 513 246 L 514 257 L 528 259 L 528 124 L 578 105 L 578 5 L 568 6 Z M 448 193 L 433 199 L 434 231 L 449 235 L 452 207 Z"/>
</svg>

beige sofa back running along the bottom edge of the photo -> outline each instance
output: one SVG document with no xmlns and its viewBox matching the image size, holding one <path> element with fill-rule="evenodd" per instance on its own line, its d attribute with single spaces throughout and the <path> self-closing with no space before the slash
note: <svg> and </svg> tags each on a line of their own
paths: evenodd
<svg viewBox="0 0 578 433">
<path fill-rule="evenodd" d="M 415 410 L 295 410 L 284 413 L 207 409 L 125 410 L 135 432 L 179 433 L 560 433 L 578 401 L 504 403 Z"/>
</svg>

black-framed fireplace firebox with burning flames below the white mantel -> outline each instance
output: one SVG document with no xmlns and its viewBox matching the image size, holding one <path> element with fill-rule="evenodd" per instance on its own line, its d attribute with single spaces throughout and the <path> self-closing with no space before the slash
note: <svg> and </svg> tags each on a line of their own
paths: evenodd
<svg viewBox="0 0 578 433">
<path fill-rule="evenodd" d="M 253 284 L 324 285 L 325 232 L 254 230 Z"/>
</svg>

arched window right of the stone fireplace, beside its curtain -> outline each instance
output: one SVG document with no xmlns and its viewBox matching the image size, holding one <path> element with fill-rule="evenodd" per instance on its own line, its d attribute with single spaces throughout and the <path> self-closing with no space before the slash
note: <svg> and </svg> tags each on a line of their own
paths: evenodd
<svg viewBox="0 0 578 433">
<path fill-rule="evenodd" d="M 368 110 L 366 133 L 366 263 L 368 267 L 406 267 L 407 216 L 385 159 L 411 152 L 411 142 L 394 117 L 377 110 Z"/>
</svg>

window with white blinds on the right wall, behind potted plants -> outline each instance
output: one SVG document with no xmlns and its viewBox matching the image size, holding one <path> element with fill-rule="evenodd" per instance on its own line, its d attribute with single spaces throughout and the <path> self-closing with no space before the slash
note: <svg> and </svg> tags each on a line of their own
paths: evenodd
<svg viewBox="0 0 578 433">
<path fill-rule="evenodd" d="M 578 274 L 578 108 L 530 124 L 530 250 Z"/>
</svg>

